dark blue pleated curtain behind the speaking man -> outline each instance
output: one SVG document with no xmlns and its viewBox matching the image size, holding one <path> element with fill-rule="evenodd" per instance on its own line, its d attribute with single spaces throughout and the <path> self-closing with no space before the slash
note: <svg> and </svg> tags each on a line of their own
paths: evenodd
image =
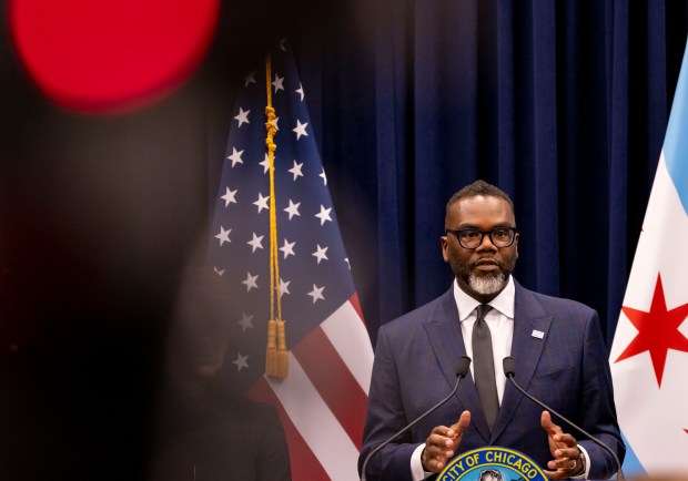
<svg viewBox="0 0 688 481">
<path fill-rule="evenodd" d="M 377 0 L 292 34 L 366 323 L 448 288 L 447 198 L 513 197 L 516 278 L 610 344 L 686 45 L 687 2 Z"/>
</svg>

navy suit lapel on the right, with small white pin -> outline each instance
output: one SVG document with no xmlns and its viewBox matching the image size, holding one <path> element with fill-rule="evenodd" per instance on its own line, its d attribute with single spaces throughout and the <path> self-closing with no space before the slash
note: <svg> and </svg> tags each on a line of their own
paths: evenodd
<svg viewBox="0 0 688 481">
<path fill-rule="evenodd" d="M 547 341 L 550 325 L 552 314 L 543 310 L 533 293 L 516 283 L 512 357 L 516 362 L 515 380 L 524 389 L 527 389 L 530 379 L 533 379 L 535 368 Z M 508 426 L 523 398 L 524 396 L 507 379 L 504 398 L 495 422 L 493 440 L 497 439 Z"/>
</svg>

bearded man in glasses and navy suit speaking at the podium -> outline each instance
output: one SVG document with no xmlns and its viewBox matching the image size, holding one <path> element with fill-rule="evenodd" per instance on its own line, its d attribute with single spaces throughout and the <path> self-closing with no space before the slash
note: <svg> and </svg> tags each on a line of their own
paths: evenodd
<svg viewBox="0 0 688 481">
<path fill-rule="evenodd" d="M 473 359 L 471 375 L 447 403 L 368 461 L 367 480 L 431 478 L 455 454 L 485 446 L 523 452 L 550 479 L 610 477 L 614 458 L 555 424 L 549 412 L 506 382 L 502 368 L 512 356 L 520 386 L 623 460 L 597 313 L 528 290 L 512 277 L 518 257 L 514 206 L 494 185 L 477 181 L 454 194 L 441 243 L 455 274 L 449 290 L 380 329 L 360 469 L 372 449 L 451 392 L 459 357 Z M 480 308 L 486 314 L 478 320 L 480 305 L 489 307 Z M 485 325 L 487 348 L 473 337 L 483 332 L 485 340 Z M 492 359 L 480 364 L 485 351 Z"/>
</svg>

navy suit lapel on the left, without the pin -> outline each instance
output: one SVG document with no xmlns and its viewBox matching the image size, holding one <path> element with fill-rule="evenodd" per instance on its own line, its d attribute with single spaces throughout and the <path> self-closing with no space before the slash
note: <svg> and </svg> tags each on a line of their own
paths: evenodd
<svg viewBox="0 0 688 481">
<path fill-rule="evenodd" d="M 456 362 L 462 356 L 466 356 L 466 346 L 461 331 L 453 289 L 442 296 L 437 308 L 424 327 L 444 376 L 449 386 L 454 387 L 456 383 Z M 455 397 L 458 399 L 462 410 L 471 411 L 471 429 L 475 429 L 487 443 L 489 430 L 471 372 L 462 380 Z M 456 413 L 456 419 L 458 419 L 458 415 L 461 412 Z"/>
</svg>

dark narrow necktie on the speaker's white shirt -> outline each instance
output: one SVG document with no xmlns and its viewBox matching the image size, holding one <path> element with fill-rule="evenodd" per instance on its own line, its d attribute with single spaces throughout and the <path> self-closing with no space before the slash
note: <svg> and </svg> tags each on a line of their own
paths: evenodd
<svg viewBox="0 0 688 481">
<path fill-rule="evenodd" d="M 473 377 L 483 403 L 487 426 L 492 432 L 495 419 L 497 419 L 497 411 L 499 411 L 499 398 L 497 397 L 497 383 L 495 381 L 492 336 L 489 335 L 489 327 L 485 323 L 485 315 L 489 309 L 492 309 L 490 306 L 480 304 L 477 308 L 478 317 L 473 325 Z"/>
</svg>

